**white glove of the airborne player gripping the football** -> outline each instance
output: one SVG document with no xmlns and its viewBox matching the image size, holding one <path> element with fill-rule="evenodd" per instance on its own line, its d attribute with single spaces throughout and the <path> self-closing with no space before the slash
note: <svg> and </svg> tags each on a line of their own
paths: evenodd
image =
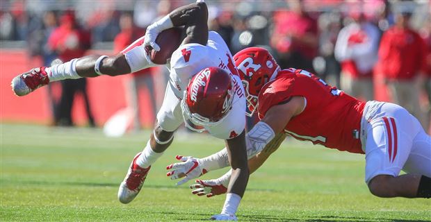
<svg viewBox="0 0 431 222">
<path fill-rule="evenodd" d="M 169 15 L 166 15 L 157 22 L 149 25 L 145 32 L 144 46 L 151 46 L 154 50 L 160 51 L 160 46 L 156 43 L 157 35 L 161 33 L 161 31 L 172 27 L 174 27 L 174 24 L 172 24 L 172 20 Z"/>
</svg>

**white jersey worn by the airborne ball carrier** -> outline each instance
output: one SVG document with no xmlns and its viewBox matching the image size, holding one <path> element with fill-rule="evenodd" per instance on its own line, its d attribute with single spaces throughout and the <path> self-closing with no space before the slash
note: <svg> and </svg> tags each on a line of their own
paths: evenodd
<svg viewBox="0 0 431 222">
<path fill-rule="evenodd" d="M 225 41 L 216 32 L 209 32 L 206 46 L 184 44 L 170 59 L 170 89 L 177 99 L 183 99 L 190 78 L 206 67 L 225 69 L 234 81 L 235 96 L 227 117 L 215 126 L 204 126 L 214 137 L 229 139 L 243 133 L 245 128 L 245 96 L 241 79 Z M 160 121 L 159 121 L 160 122 Z"/>
</svg>

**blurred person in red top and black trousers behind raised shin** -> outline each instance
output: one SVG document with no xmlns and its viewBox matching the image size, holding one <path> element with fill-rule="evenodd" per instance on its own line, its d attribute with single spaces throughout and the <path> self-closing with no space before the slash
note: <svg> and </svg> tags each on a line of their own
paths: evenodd
<svg viewBox="0 0 431 222">
<path fill-rule="evenodd" d="M 90 48 L 90 34 L 79 28 L 78 24 L 76 24 L 74 12 L 68 11 L 60 18 L 60 26 L 49 36 L 48 44 L 51 49 L 58 53 L 60 60 L 69 61 L 72 58 L 84 56 Z M 60 126 L 73 125 L 72 105 L 77 92 L 82 94 L 86 103 L 88 124 L 95 126 L 87 94 L 86 78 L 62 81 L 60 104 L 54 118 L 54 124 Z"/>
</svg>

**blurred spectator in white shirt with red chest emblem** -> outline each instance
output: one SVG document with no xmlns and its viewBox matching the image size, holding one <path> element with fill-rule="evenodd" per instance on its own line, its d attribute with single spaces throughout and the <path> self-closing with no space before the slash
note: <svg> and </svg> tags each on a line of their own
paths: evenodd
<svg viewBox="0 0 431 222">
<path fill-rule="evenodd" d="M 363 12 L 351 12 L 350 17 L 352 23 L 341 28 L 335 44 L 335 58 L 341 63 L 340 86 L 348 94 L 370 101 L 380 32 Z"/>
</svg>

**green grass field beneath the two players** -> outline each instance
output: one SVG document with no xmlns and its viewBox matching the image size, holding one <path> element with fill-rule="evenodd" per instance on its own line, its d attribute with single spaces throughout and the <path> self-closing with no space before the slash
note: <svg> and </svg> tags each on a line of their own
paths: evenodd
<svg viewBox="0 0 431 222">
<path fill-rule="evenodd" d="M 88 128 L 2 124 L 0 221 L 206 221 L 220 213 L 225 196 L 198 198 L 165 176 L 174 155 L 204 157 L 220 150 L 223 142 L 208 135 L 179 133 L 153 165 L 141 194 L 129 205 L 117 200 L 117 187 L 148 135 L 107 138 Z M 431 200 L 372 196 L 364 183 L 364 155 L 288 139 L 250 176 L 237 216 L 431 221 Z"/>
</svg>

